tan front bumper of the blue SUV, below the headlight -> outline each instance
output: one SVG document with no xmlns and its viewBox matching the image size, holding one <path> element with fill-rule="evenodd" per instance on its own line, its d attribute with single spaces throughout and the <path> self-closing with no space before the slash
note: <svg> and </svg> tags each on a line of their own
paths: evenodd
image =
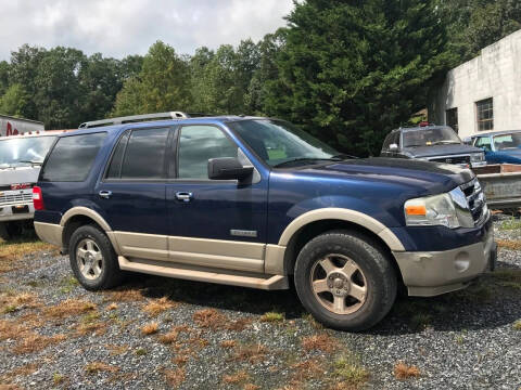
<svg viewBox="0 0 521 390">
<path fill-rule="evenodd" d="M 443 251 L 393 252 L 409 296 L 431 297 L 455 291 L 494 270 L 497 246 L 491 227 L 481 242 Z"/>
</svg>

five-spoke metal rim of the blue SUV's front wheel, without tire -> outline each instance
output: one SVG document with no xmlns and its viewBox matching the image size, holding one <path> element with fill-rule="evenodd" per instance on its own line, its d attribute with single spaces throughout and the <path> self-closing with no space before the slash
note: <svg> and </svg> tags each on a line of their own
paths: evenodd
<svg viewBox="0 0 521 390">
<path fill-rule="evenodd" d="M 318 302 L 335 314 L 352 314 L 367 299 L 367 281 L 360 266 L 344 255 L 328 255 L 315 262 L 312 290 Z"/>
</svg>

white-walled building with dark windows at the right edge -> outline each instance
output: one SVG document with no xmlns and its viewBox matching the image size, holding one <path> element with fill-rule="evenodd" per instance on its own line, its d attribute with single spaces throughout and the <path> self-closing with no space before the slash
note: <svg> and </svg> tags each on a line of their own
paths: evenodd
<svg viewBox="0 0 521 390">
<path fill-rule="evenodd" d="M 480 131 L 521 130 L 521 30 L 447 73 L 429 96 L 429 121 L 466 138 Z"/>
</svg>

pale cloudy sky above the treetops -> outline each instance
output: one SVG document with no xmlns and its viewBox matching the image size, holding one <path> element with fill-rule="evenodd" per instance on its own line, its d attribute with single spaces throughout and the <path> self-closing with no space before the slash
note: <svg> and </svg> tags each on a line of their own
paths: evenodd
<svg viewBox="0 0 521 390">
<path fill-rule="evenodd" d="M 90 55 L 145 54 L 162 40 L 180 54 L 284 26 L 292 0 L 0 0 L 0 61 L 24 43 Z"/>
</svg>

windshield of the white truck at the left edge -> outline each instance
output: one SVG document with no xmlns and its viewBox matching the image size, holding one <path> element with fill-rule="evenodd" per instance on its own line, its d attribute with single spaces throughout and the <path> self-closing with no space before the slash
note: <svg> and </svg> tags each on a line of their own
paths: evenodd
<svg viewBox="0 0 521 390">
<path fill-rule="evenodd" d="M 0 141 L 0 168 L 42 164 L 55 139 L 31 136 Z"/>
</svg>

